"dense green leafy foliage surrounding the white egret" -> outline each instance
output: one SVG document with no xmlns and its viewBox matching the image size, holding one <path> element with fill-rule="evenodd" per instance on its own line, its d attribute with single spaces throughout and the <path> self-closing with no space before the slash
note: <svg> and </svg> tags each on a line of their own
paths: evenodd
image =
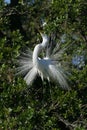
<svg viewBox="0 0 87 130">
<path fill-rule="evenodd" d="M 51 42 L 71 44 L 65 52 L 71 73 L 70 91 L 42 83 L 27 87 L 15 76 L 16 59 L 41 38 L 37 28 L 47 22 Z M 78 62 L 75 62 L 78 60 Z M 83 57 L 81 59 L 81 57 Z M 72 61 L 74 60 L 74 64 Z M 87 129 L 87 2 L 85 0 L 0 1 L 0 129 Z"/>
</svg>

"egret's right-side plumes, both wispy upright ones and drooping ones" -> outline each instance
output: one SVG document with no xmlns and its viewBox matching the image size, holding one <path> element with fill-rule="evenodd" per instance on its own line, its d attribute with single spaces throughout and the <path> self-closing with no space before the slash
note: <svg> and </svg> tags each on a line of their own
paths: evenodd
<svg viewBox="0 0 87 130">
<path fill-rule="evenodd" d="M 54 46 L 54 48 L 53 48 Z M 53 45 L 50 44 L 47 48 L 46 57 L 51 60 L 53 65 L 49 66 L 51 78 L 55 82 L 59 83 L 64 89 L 69 89 L 68 87 L 68 73 L 67 73 L 67 63 L 63 59 L 63 54 L 67 50 L 68 46 L 61 48 L 61 44 Z M 66 71 L 65 71 L 66 70 Z"/>
</svg>

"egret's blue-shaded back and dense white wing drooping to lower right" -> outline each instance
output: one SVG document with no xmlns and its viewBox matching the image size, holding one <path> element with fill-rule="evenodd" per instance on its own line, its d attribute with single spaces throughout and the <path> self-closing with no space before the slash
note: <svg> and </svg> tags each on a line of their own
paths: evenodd
<svg viewBox="0 0 87 130">
<path fill-rule="evenodd" d="M 68 77 L 63 70 L 62 66 L 55 64 L 50 58 L 44 58 L 40 60 L 40 71 L 43 74 L 44 78 L 47 78 L 48 81 L 56 82 L 60 84 L 60 87 L 63 89 L 69 89 L 68 87 Z"/>
</svg>

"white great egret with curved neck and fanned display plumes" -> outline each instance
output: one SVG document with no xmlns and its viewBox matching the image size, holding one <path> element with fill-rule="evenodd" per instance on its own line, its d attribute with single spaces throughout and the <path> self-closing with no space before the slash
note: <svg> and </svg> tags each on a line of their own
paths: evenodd
<svg viewBox="0 0 87 130">
<path fill-rule="evenodd" d="M 46 57 L 40 58 L 40 52 L 46 49 L 49 43 L 49 37 L 44 33 L 40 34 L 42 36 L 42 43 L 36 45 L 33 52 L 28 49 L 27 52 L 22 53 L 22 56 L 20 56 L 20 66 L 17 68 L 18 74 L 25 74 L 24 80 L 27 85 L 32 84 L 36 76 L 39 75 L 42 81 L 44 78 L 48 81 L 53 80 L 60 84 L 62 88 L 68 89 L 67 76 L 60 62 L 57 62 L 64 52 L 64 48 L 57 51 L 59 49 L 59 46 L 57 46 L 53 54 L 50 55 L 48 53 Z"/>
</svg>

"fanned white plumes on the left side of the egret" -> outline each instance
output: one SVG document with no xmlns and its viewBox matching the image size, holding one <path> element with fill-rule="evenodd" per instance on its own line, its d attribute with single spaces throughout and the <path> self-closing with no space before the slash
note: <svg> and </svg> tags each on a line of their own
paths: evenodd
<svg viewBox="0 0 87 130">
<path fill-rule="evenodd" d="M 30 49 L 22 52 L 18 58 L 19 67 L 16 68 L 17 75 L 25 75 L 24 80 L 27 85 L 30 85 L 37 76 L 36 68 L 33 67 L 32 54 L 33 52 Z"/>
</svg>

